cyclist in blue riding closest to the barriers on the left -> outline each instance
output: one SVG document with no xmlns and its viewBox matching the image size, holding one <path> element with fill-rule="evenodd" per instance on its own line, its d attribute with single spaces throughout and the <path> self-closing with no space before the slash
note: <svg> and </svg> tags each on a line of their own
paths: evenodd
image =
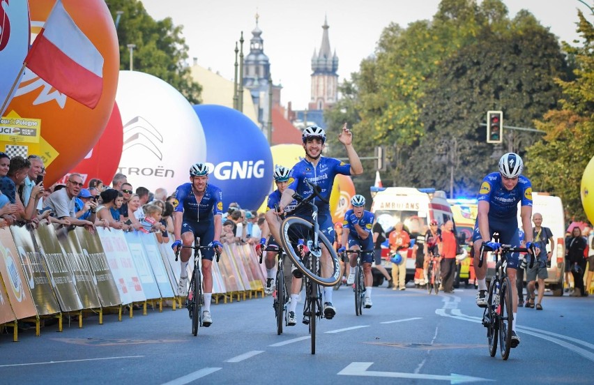
<svg viewBox="0 0 594 385">
<path fill-rule="evenodd" d="M 192 246 L 196 237 L 201 245 L 222 249 L 220 235 L 222 230 L 222 193 L 220 188 L 208 183 L 208 166 L 196 163 L 190 167 L 190 183 L 184 183 L 176 189 L 178 204 L 174 211 L 175 242 L 172 249 L 177 252 L 180 246 Z M 182 248 L 180 252 L 181 275 L 178 293 L 188 294 L 188 261 L 192 249 Z M 211 326 L 211 297 L 213 294 L 213 249 L 202 251 L 202 276 L 204 289 L 204 310 L 202 325 Z"/>
</svg>

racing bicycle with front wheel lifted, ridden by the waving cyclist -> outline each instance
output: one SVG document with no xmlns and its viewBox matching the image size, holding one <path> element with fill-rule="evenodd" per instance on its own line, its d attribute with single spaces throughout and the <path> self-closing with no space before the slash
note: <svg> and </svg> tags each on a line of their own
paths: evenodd
<svg viewBox="0 0 594 385">
<path fill-rule="evenodd" d="M 305 304 L 303 307 L 303 323 L 309 325 L 312 354 L 316 354 L 316 321 L 323 317 L 321 286 L 334 286 L 342 277 L 340 259 L 336 255 L 333 244 L 319 229 L 318 207 L 314 199 L 321 199 L 328 204 L 328 199 L 321 195 L 321 188 L 307 179 L 305 183 L 312 190 L 309 197 L 303 198 L 294 194 L 297 201 L 295 208 L 286 213 L 280 225 L 280 241 L 294 266 L 305 276 Z M 312 222 L 296 216 L 307 206 L 312 210 Z M 330 253 L 330 266 L 321 266 L 322 248 Z"/>
</svg>

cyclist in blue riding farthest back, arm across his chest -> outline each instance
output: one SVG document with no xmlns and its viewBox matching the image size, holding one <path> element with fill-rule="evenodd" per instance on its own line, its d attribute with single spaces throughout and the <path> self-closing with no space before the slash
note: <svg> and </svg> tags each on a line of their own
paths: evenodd
<svg viewBox="0 0 594 385">
<path fill-rule="evenodd" d="M 344 214 L 342 222 L 342 244 L 349 246 L 352 250 L 373 250 L 372 227 L 375 216 L 370 211 L 365 210 L 365 197 L 363 195 L 354 195 L 351 198 L 353 208 Z M 344 246 L 338 250 L 344 252 Z M 365 277 L 365 308 L 369 309 L 373 303 L 371 300 L 371 289 L 373 287 L 373 275 L 371 264 L 374 256 L 373 251 L 364 252 L 361 255 L 361 264 L 363 266 L 363 275 Z M 350 260 L 351 270 L 347 285 L 353 285 L 355 282 L 355 265 L 357 259 L 353 255 Z"/>
</svg>

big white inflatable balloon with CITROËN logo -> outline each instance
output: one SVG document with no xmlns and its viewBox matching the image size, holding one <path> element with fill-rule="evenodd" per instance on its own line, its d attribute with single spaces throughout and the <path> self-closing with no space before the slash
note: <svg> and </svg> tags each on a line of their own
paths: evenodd
<svg viewBox="0 0 594 385">
<path fill-rule="evenodd" d="M 120 71 L 116 103 L 123 123 L 118 172 L 132 188 L 171 195 L 189 182 L 190 166 L 206 161 L 206 139 L 188 100 L 158 77 Z"/>
</svg>

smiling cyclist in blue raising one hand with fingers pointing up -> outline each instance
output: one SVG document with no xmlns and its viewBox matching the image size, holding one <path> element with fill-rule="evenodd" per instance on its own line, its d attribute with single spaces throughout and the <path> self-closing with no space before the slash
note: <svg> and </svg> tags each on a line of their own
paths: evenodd
<svg viewBox="0 0 594 385">
<path fill-rule="evenodd" d="M 326 142 L 326 132 L 318 126 L 310 126 L 303 130 L 303 149 L 305 150 L 305 157 L 300 160 L 293 169 L 291 169 L 291 183 L 286 190 L 282 193 L 279 212 L 268 211 L 266 213 L 266 220 L 268 221 L 268 227 L 273 234 L 275 239 L 280 239 L 280 222 L 277 219 L 277 215 L 284 212 L 284 209 L 293 200 L 293 194 L 298 193 L 300 196 L 306 198 L 312 195 L 312 190 L 305 183 L 305 179 L 310 183 L 317 184 L 321 188 L 321 194 L 330 197 L 332 192 L 332 185 L 334 178 L 337 174 L 343 175 L 359 175 L 363 173 L 363 166 L 359 160 L 355 149 L 353 148 L 353 134 L 351 130 L 347 128 L 347 123 L 342 126 L 342 131 L 338 135 L 338 140 L 344 145 L 347 150 L 347 156 L 349 157 L 349 164 L 344 164 L 340 160 L 335 158 L 326 158 L 321 156 Z M 328 238 L 330 243 L 334 243 L 334 226 L 332 223 L 332 217 L 330 216 L 330 208 L 328 204 L 321 202 L 320 199 L 316 198 L 314 204 L 318 206 L 318 223 L 321 232 Z M 295 213 L 296 216 L 305 220 L 312 220 L 312 213 L 307 212 L 307 209 Z M 330 275 L 331 269 L 333 269 L 330 262 L 330 252 L 326 248 L 322 248 L 321 255 L 321 272 L 323 275 Z M 300 276 L 300 271 L 294 270 L 294 276 Z M 336 308 L 332 305 L 332 291 L 333 287 L 324 287 L 324 304 L 323 312 L 327 319 L 332 319 L 336 314 Z M 298 294 L 291 294 L 291 303 L 297 302 Z"/>
</svg>

